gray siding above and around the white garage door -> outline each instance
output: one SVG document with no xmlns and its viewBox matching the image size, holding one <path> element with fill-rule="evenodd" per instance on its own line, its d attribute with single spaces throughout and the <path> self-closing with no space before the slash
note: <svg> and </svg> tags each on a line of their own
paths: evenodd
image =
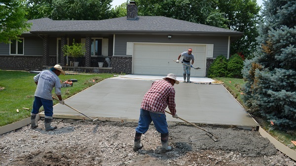
<svg viewBox="0 0 296 166">
<path fill-rule="evenodd" d="M 214 44 L 214 58 L 219 55 L 227 57 L 228 37 L 216 36 L 177 36 L 172 35 L 115 35 L 115 56 L 126 56 L 126 42 L 153 42 L 153 43 L 196 43 Z M 184 50 L 180 50 L 182 53 Z"/>
</svg>

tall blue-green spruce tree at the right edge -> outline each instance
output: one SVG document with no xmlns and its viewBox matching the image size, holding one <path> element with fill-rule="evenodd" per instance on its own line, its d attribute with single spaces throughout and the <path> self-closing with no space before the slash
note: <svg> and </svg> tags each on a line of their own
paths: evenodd
<svg viewBox="0 0 296 166">
<path fill-rule="evenodd" d="M 243 100 L 282 130 L 296 128 L 296 1 L 264 2 L 257 53 L 246 61 Z"/>
</svg>

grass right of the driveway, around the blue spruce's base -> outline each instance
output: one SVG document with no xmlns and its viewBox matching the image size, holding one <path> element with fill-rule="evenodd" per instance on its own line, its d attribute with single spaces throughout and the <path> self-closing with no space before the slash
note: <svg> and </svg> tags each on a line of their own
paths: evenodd
<svg viewBox="0 0 296 166">
<path fill-rule="evenodd" d="M 238 78 L 224 78 L 218 77 L 214 78 L 215 81 L 222 81 L 224 83 L 224 87 L 238 100 L 243 106 L 243 102 L 241 100 L 241 96 L 243 95 L 242 87 L 245 84 L 243 79 Z M 253 116 L 254 119 L 259 123 L 262 129 L 264 129 L 267 133 L 273 136 L 275 139 L 286 145 L 287 147 L 296 151 L 296 146 L 291 143 L 291 140 L 296 140 L 296 129 L 293 131 L 283 132 L 280 130 L 274 129 L 274 127 L 267 122 L 267 120 L 263 120 L 259 117 Z"/>
</svg>

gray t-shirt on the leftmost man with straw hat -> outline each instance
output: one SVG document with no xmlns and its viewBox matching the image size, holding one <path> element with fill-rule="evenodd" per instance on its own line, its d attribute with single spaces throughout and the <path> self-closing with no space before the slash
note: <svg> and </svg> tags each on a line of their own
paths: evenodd
<svg viewBox="0 0 296 166">
<path fill-rule="evenodd" d="M 52 100 L 51 91 L 55 87 L 55 93 L 61 95 L 61 82 L 60 78 L 53 71 L 44 70 L 34 77 L 34 81 L 38 82 L 35 91 L 35 96 Z"/>
</svg>

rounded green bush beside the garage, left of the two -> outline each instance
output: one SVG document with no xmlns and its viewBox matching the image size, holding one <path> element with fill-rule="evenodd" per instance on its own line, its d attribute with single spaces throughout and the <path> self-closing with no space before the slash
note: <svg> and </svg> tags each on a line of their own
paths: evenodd
<svg viewBox="0 0 296 166">
<path fill-rule="evenodd" d="M 208 70 L 209 78 L 227 76 L 227 60 L 223 55 L 218 56 Z"/>
</svg>

